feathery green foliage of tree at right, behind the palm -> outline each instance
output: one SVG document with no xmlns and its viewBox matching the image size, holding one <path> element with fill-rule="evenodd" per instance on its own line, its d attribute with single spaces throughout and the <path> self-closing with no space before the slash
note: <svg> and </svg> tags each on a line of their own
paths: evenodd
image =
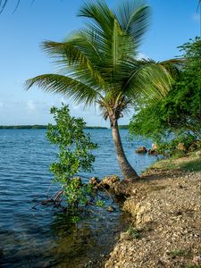
<svg viewBox="0 0 201 268">
<path fill-rule="evenodd" d="M 184 60 L 172 90 L 157 104 L 140 107 L 130 121 L 132 134 L 153 138 L 163 151 L 165 144 L 172 151 L 180 142 L 190 147 L 201 139 L 201 39 L 179 47 Z"/>
</svg>

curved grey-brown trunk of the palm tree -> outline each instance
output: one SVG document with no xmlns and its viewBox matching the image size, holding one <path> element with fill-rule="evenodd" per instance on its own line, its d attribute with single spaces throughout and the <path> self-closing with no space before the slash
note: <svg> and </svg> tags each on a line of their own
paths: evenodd
<svg viewBox="0 0 201 268">
<path fill-rule="evenodd" d="M 124 177 L 124 180 L 127 181 L 133 181 L 139 179 L 137 172 L 134 171 L 134 169 L 131 167 L 129 161 L 126 158 L 126 155 L 123 151 L 122 143 L 121 143 L 121 137 L 120 137 L 120 131 L 118 128 L 118 122 L 115 121 L 113 123 L 113 144 L 115 147 L 117 160 L 120 165 L 121 173 Z"/>
</svg>

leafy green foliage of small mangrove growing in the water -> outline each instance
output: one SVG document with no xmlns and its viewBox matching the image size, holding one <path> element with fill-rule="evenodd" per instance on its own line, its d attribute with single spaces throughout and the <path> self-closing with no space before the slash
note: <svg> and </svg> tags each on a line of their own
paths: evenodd
<svg viewBox="0 0 201 268">
<path fill-rule="evenodd" d="M 54 114 L 55 125 L 48 125 L 46 137 L 59 147 L 59 161 L 50 165 L 50 171 L 54 173 L 54 181 L 61 184 L 68 205 L 85 205 L 91 187 L 73 176 L 92 171 L 95 156 L 91 150 L 96 149 L 96 144 L 83 131 L 83 119 L 72 117 L 67 105 L 52 107 L 50 113 Z"/>
</svg>

